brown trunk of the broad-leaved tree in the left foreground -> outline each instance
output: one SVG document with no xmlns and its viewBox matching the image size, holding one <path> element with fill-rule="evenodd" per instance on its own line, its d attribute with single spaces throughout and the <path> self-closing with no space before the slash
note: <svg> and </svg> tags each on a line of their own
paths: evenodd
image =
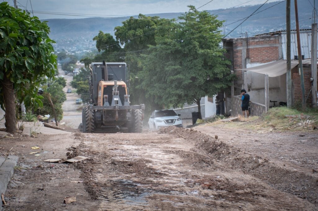
<svg viewBox="0 0 318 211">
<path fill-rule="evenodd" d="M 16 95 L 14 93 L 13 83 L 3 74 L 2 81 L 4 108 L 5 108 L 5 127 L 7 132 L 15 133 L 17 131 L 16 118 Z"/>
</svg>

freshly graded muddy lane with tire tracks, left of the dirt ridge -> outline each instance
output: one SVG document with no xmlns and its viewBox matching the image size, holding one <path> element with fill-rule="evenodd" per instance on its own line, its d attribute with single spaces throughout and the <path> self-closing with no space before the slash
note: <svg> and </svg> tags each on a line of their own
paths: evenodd
<svg viewBox="0 0 318 211">
<path fill-rule="evenodd" d="M 77 154 L 89 157 L 75 166 L 82 171 L 86 190 L 100 201 L 100 210 L 314 208 L 202 150 L 208 146 L 198 145 L 200 133 L 167 130 L 160 132 L 172 135 L 75 135 L 82 141 Z M 222 143 L 218 147 L 231 148 Z"/>
</svg>

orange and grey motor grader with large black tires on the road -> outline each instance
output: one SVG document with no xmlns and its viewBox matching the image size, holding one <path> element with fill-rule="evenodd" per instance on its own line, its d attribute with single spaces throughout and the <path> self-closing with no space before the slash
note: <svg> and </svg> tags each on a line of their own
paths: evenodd
<svg viewBox="0 0 318 211">
<path fill-rule="evenodd" d="M 142 132 L 145 105 L 130 105 L 127 64 L 89 65 L 90 104 L 82 109 L 83 132 Z"/>
</svg>

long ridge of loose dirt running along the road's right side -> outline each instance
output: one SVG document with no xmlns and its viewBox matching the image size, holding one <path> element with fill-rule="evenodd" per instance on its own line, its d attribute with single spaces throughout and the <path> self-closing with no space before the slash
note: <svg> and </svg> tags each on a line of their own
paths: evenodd
<svg viewBox="0 0 318 211">
<path fill-rule="evenodd" d="M 232 169 L 241 169 L 244 173 L 266 181 L 274 188 L 318 204 L 318 178 L 315 174 L 301 172 L 271 163 L 259 156 L 251 156 L 239 148 L 225 144 L 214 137 L 193 129 L 167 127 L 159 133 L 171 134 L 187 140 L 196 141 L 196 146 L 211 154 L 218 161 L 226 163 Z"/>
</svg>

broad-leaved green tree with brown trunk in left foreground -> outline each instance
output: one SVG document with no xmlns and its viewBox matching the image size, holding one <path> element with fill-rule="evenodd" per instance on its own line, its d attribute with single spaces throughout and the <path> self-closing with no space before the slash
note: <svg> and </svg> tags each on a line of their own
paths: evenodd
<svg viewBox="0 0 318 211">
<path fill-rule="evenodd" d="M 37 92 L 37 80 L 57 68 L 46 22 L 0 3 L 0 104 L 8 132 L 16 132 L 16 100 Z"/>
</svg>

